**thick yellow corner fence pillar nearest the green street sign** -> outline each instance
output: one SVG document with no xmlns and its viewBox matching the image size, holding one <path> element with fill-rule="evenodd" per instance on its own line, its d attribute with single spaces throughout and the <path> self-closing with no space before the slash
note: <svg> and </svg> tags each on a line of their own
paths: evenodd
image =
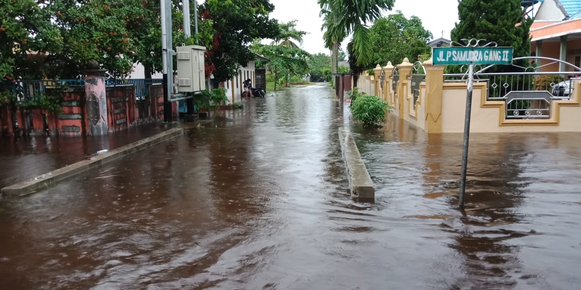
<svg viewBox="0 0 581 290">
<path fill-rule="evenodd" d="M 442 95 L 446 66 L 434 66 L 430 58 L 424 61 L 424 67 L 426 69 L 426 132 L 442 133 Z"/>
</svg>

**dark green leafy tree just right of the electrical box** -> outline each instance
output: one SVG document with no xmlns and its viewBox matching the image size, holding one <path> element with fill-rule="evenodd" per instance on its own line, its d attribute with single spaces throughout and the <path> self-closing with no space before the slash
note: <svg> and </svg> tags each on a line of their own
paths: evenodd
<svg viewBox="0 0 581 290">
<path fill-rule="evenodd" d="M 239 66 L 254 59 L 250 44 L 254 39 L 276 39 L 278 22 L 268 14 L 274 10 L 268 0 L 207 0 L 202 19 L 213 20 L 212 48 L 206 64 L 214 79 L 227 81 L 238 74 Z"/>
</svg>

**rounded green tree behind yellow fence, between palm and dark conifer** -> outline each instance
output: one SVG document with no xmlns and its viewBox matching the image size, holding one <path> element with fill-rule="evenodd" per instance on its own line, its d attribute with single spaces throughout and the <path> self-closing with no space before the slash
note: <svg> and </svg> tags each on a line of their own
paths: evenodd
<svg viewBox="0 0 581 290">
<path fill-rule="evenodd" d="M 370 28 L 371 45 L 375 48 L 371 62 L 366 68 L 376 64 L 385 66 L 388 61 L 399 64 L 407 57 L 410 61 L 430 53 L 427 42 L 433 37 L 417 16 L 407 19 L 400 10 L 396 14 L 375 20 Z"/>
</svg>

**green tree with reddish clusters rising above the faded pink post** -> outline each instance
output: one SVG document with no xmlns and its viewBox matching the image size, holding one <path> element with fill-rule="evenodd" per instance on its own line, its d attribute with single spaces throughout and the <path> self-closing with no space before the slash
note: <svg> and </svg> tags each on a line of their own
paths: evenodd
<svg viewBox="0 0 581 290">
<path fill-rule="evenodd" d="M 69 63 L 78 72 L 96 62 L 110 77 L 125 77 L 142 40 L 131 35 L 132 28 L 153 21 L 157 15 L 145 6 L 146 1 L 137 0 L 51 1 L 46 9 L 53 13 L 64 45 L 62 53 L 49 57 L 48 63 Z"/>
</svg>

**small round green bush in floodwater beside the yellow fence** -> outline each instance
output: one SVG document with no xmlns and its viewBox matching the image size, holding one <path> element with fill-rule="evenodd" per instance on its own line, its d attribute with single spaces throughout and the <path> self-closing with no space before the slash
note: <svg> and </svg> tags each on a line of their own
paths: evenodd
<svg viewBox="0 0 581 290">
<path fill-rule="evenodd" d="M 352 93 L 356 99 L 351 103 L 351 113 L 356 121 L 363 123 L 363 128 L 374 128 L 385 122 L 385 114 L 390 112 L 387 102 L 366 93 Z"/>
</svg>

